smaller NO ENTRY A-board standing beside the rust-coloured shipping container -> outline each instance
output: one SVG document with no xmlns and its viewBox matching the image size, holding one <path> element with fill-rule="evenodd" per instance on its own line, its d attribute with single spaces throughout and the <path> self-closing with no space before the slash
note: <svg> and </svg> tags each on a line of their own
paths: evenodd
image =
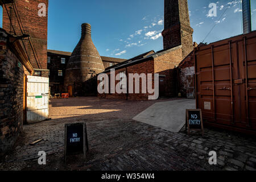
<svg viewBox="0 0 256 182">
<path fill-rule="evenodd" d="M 204 126 L 201 109 L 187 109 L 186 111 L 186 131 L 201 130 L 204 135 Z"/>
</svg>

